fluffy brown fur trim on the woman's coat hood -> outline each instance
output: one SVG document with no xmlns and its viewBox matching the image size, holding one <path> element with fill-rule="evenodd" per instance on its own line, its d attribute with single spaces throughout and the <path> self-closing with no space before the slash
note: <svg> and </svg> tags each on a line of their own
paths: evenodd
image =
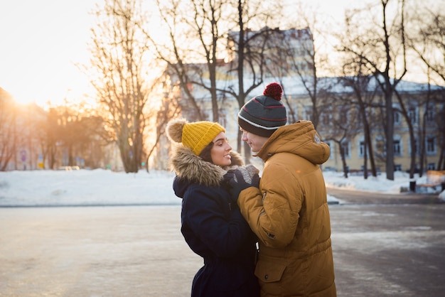
<svg viewBox="0 0 445 297">
<path fill-rule="evenodd" d="M 204 161 L 200 156 L 196 156 L 191 148 L 177 146 L 173 151 L 170 165 L 178 178 L 200 185 L 219 186 L 227 171 L 244 165 L 240 154 L 236 151 L 231 151 L 230 156 L 232 157 L 232 164 L 222 168 Z"/>
</svg>

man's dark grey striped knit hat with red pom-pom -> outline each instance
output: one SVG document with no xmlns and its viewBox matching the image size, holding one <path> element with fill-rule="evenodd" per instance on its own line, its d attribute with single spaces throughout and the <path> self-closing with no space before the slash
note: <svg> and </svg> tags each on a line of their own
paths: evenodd
<svg viewBox="0 0 445 297">
<path fill-rule="evenodd" d="M 266 86 L 263 95 L 250 99 L 238 113 L 238 125 L 252 134 L 269 137 L 287 122 L 282 104 L 283 89 L 277 82 Z"/>
</svg>

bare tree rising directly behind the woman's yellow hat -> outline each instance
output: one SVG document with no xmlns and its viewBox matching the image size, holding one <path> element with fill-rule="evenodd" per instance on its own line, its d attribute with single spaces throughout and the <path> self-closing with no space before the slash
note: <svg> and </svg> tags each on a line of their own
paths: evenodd
<svg viewBox="0 0 445 297">
<path fill-rule="evenodd" d="M 156 58 L 166 63 L 166 74 L 174 79 L 173 86 L 178 83 L 186 95 L 183 107 L 191 106 L 188 118 L 207 119 L 193 92 L 196 86 L 210 94 L 212 118 L 218 121 L 217 68 L 223 61 L 218 55 L 225 49 L 225 31 L 221 30 L 227 28 L 225 16 L 232 7 L 230 1 L 156 0 L 156 6 L 168 38 L 159 41 L 153 32 L 143 30 Z"/>
</svg>

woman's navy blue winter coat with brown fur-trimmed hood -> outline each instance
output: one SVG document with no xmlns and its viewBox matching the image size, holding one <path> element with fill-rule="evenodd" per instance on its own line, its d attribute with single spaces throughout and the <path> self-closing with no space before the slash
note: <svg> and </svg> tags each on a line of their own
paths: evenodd
<svg viewBox="0 0 445 297">
<path fill-rule="evenodd" d="M 182 149 L 181 153 L 188 152 Z M 183 198 L 181 232 L 188 246 L 204 261 L 193 279 L 191 296 L 259 296 L 254 276 L 257 239 L 223 183 L 226 171 L 193 153 L 186 154 L 186 158 L 181 153 L 173 158 L 177 174 L 173 190 Z M 234 159 L 236 156 L 232 156 L 232 163 Z M 188 161 L 198 161 L 199 170 L 193 168 L 196 163 Z M 188 169 L 181 171 L 182 168 Z"/>
</svg>

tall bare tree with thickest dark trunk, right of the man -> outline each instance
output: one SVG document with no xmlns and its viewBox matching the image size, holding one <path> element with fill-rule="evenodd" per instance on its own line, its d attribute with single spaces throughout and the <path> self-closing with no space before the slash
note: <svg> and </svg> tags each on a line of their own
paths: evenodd
<svg viewBox="0 0 445 297">
<path fill-rule="evenodd" d="M 380 0 L 380 24 L 370 21 L 372 26 L 364 28 L 363 19 L 372 16 L 373 7 L 353 11 L 346 16 L 346 30 L 340 50 L 365 62 L 375 75 L 385 97 L 385 153 L 388 180 L 394 180 L 394 90 L 407 73 L 406 48 L 404 43 L 404 0 L 396 10 L 399 15 L 390 16 L 388 5 L 391 0 Z M 394 4 L 395 1 L 392 1 Z M 394 4 L 395 5 L 395 4 Z M 379 19 L 379 18 L 377 18 Z M 380 53 L 383 53 L 381 55 Z"/>
</svg>

